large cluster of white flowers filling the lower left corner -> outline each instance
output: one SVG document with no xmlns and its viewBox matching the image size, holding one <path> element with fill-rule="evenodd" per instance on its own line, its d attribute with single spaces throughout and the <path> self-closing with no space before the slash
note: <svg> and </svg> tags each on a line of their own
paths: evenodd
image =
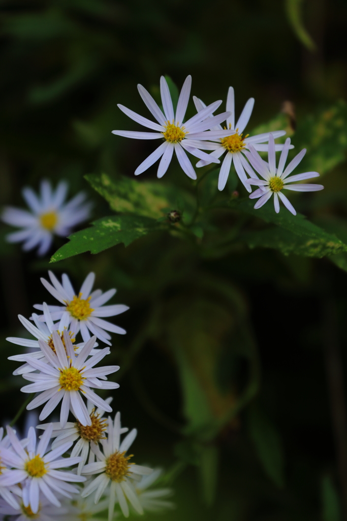
<svg viewBox="0 0 347 521">
<path fill-rule="evenodd" d="M 38 443 L 33 427 L 21 440 L 14 428 L 7 426 L 5 437 L 0 429 L 0 514 L 17 516 L 18 521 L 58 521 L 61 516 L 78 521 L 108 510 L 111 521 L 118 515 L 116 504 L 125 517 L 131 511 L 143 514 L 172 507 L 163 499 L 170 495 L 169 489 L 147 490 L 158 479 L 158 470 L 153 473 L 151 468 L 130 461 L 133 455 L 127 451 L 136 429 L 127 433 L 128 429 L 121 427 L 120 413 L 114 421 L 105 417 L 112 411 L 112 397 L 104 400 L 97 394 L 98 390 L 119 387 L 107 379 L 119 366 L 97 366 L 110 354 L 107 331 L 125 333 L 99 317 L 118 315 L 128 307 L 105 306 L 115 290 L 92 292 L 93 273 L 86 277 L 78 295 L 66 274 L 61 283 L 52 272 L 49 277 L 52 284 L 45 279 L 42 282 L 63 306 L 36 304 L 43 315 L 33 313 L 32 321 L 19 315 L 35 340 L 7 340 L 34 350 L 9 357 L 24 362 L 14 374 L 31 382 L 21 388 L 31 394 L 27 409 L 44 405 L 39 416 L 42 421 L 60 407 L 60 421 L 37 425 L 43 432 Z M 96 334 L 91 337 L 89 331 Z M 79 332 L 83 342 L 75 344 Z M 95 349 L 97 337 L 107 344 L 105 348 Z M 70 414 L 72 421 L 68 421 Z"/>
</svg>

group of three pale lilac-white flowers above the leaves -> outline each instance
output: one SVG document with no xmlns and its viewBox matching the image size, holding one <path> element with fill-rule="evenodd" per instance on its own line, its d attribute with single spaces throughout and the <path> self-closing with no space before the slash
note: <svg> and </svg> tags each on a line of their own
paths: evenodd
<svg viewBox="0 0 347 521">
<path fill-rule="evenodd" d="M 196 179 L 196 172 L 185 151 L 200 159 L 196 164 L 198 168 L 210 165 L 211 163 L 220 163 L 219 158 L 225 153 L 219 173 L 219 190 L 225 188 L 230 168 L 234 162 L 236 173 L 248 192 L 251 192 L 251 184 L 260 186 L 260 189 L 250 195 L 251 199 L 254 199 L 254 197 L 261 197 L 260 201 L 255 204 L 254 208 L 260 208 L 260 206 L 262 206 L 262 204 L 264 204 L 271 195 L 274 194 L 276 212 L 279 211 L 279 197 L 294 215 L 295 210 L 289 203 L 287 197 L 281 193 L 282 189 L 312 192 L 324 188 L 321 184 L 299 184 L 296 185 L 298 188 L 289 188 L 286 183 L 282 182 L 284 174 L 282 175 L 281 181 L 277 179 L 269 184 L 264 184 L 263 181 L 258 178 L 256 172 L 260 173 L 262 177 L 265 176 L 264 179 L 266 181 L 270 178 L 279 177 L 274 166 L 275 152 L 282 151 L 280 162 L 280 165 L 282 165 L 286 160 L 289 148 L 293 148 L 293 145 L 290 144 L 290 140 L 287 140 L 285 145 L 274 143 L 274 140 L 285 135 L 286 131 L 277 130 L 252 136 L 249 134 L 244 135 L 245 128 L 252 114 L 254 98 L 248 100 L 240 117 L 235 123 L 234 89 L 231 86 L 229 87 L 227 94 L 226 112 L 213 116 L 214 111 L 221 105 L 222 101 L 216 101 L 206 106 L 199 98 L 194 96 L 193 99 L 197 109 L 197 114 L 184 122 L 183 120 L 190 95 L 190 87 L 191 77 L 188 76 L 183 84 L 181 94 L 178 98 L 177 109 L 174 113 L 168 83 L 164 77 L 161 77 L 160 94 L 164 110 L 163 113 L 146 89 L 142 85 L 137 86 L 138 92 L 145 105 L 158 123 L 136 114 L 123 105 L 118 105 L 128 117 L 140 125 L 156 130 L 157 132 L 113 130 L 113 134 L 132 139 L 151 140 L 162 138 L 164 140 L 164 142 L 137 167 L 135 170 L 136 176 L 147 170 L 159 158 L 161 158 L 157 176 L 158 178 L 162 177 L 168 169 L 173 152 L 175 151 L 179 165 L 181 165 L 183 171 L 191 179 Z M 221 126 L 223 121 L 226 122 L 224 129 Z M 203 150 L 212 152 L 207 154 L 203 152 Z M 268 164 L 263 161 L 256 151 L 268 152 Z M 299 164 L 304 154 L 305 151 L 302 151 L 293 159 L 290 164 L 290 171 Z M 282 166 L 284 166 L 284 164 Z M 286 169 L 286 176 L 289 173 L 288 168 L 289 167 Z M 265 170 L 267 173 L 265 173 Z M 319 173 L 317 172 L 305 172 L 298 176 L 293 176 L 291 181 L 311 179 L 317 176 L 319 176 Z"/>
</svg>

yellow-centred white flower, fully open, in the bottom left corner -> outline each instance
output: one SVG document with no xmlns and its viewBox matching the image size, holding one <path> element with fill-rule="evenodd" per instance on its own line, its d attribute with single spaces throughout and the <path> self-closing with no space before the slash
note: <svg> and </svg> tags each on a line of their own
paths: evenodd
<svg viewBox="0 0 347 521">
<path fill-rule="evenodd" d="M 35 430 L 30 427 L 28 443 L 24 449 L 15 431 L 11 427 L 7 427 L 7 434 L 13 450 L 1 450 L 3 461 L 13 470 L 9 470 L 6 474 L 0 476 L 0 484 L 16 485 L 16 483 L 21 483 L 23 504 L 25 507 L 30 506 L 34 514 L 38 512 L 40 491 L 50 503 L 60 506 L 56 492 L 71 498 L 70 492 L 78 493 L 79 489 L 69 485 L 67 481 L 85 481 L 82 476 L 76 476 L 72 472 L 56 470 L 57 468 L 76 465 L 80 462 L 80 458 L 57 459 L 70 448 L 71 442 L 60 445 L 57 449 L 46 453 L 52 430 L 53 425 L 44 432 L 36 447 Z"/>
</svg>

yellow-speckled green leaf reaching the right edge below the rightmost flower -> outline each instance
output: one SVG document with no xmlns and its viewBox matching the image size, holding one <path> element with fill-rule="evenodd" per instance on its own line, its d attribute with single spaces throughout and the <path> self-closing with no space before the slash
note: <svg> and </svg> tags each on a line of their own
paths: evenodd
<svg viewBox="0 0 347 521">
<path fill-rule="evenodd" d="M 338 239 L 335 234 L 319 228 L 301 214 L 294 216 L 285 208 L 276 214 L 271 204 L 255 210 L 254 201 L 249 199 L 230 201 L 229 206 L 282 228 L 281 231 L 276 228 L 257 230 L 241 236 L 241 240 L 245 240 L 251 247 L 271 247 L 285 254 L 297 253 L 309 257 L 324 257 L 347 252 L 347 244 Z"/>
</svg>

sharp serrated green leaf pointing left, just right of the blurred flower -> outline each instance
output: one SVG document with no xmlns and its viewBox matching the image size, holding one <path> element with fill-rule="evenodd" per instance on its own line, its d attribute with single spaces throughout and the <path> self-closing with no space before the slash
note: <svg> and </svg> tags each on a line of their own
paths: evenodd
<svg viewBox="0 0 347 521">
<path fill-rule="evenodd" d="M 99 253 L 123 243 L 125 246 L 147 233 L 160 229 L 154 219 L 133 215 L 112 215 L 94 221 L 91 228 L 69 235 L 64 244 L 52 256 L 50 262 L 58 262 L 79 253 Z"/>
</svg>

